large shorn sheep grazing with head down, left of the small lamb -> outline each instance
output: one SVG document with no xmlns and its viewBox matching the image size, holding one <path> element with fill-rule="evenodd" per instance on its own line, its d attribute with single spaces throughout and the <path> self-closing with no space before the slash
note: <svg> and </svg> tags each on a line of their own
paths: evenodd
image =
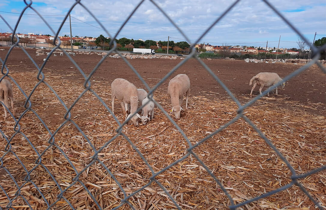
<svg viewBox="0 0 326 210">
<path fill-rule="evenodd" d="M 112 91 L 111 99 L 112 99 L 113 114 L 114 114 L 115 98 L 122 101 L 121 107 L 124 113 L 126 114 L 126 119 L 136 112 L 138 108 L 138 92 L 134 84 L 132 84 L 126 79 L 116 78 L 111 83 L 111 91 Z M 127 116 L 128 104 L 130 104 L 131 107 L 130 107 L 130 114 Z M 123 107 L 123 105 L 125 107 Z M 131 118 L 131 121 L 134 123 L 135 126 L 138 126 L 138 118 L 141 118 L 141 116 L 138 113 L 136 113 L 136 115 Z"/>
</svg>

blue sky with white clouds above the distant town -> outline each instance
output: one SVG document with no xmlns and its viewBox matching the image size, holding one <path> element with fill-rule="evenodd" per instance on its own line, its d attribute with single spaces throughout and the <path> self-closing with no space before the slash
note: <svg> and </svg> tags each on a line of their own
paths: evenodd
<svg viewBox="0 0 326 210">
<path fill-rule="evenodd" d="M 28 1 L 28 0 L 27 0 Z M 196 41 L 204 31 L 234 1 L 220 0 L 153 0 L 170 19 L 180 27 L 191 42 Z M 325 0 L 269 0 L 311 42 L 326 36 Z M 140 0 L 82 0 L 103 24 L 111 37 L 115 36 L 122 23 L 135 9 Z M 74 0 L 33 0 L 32 6 L 41 15 L 66 15 Z M 13 27 L 25 4 L 22 0 L 1 0 L 0 15 Z M 11 13 L 8 13 L 11 12 Z M 25 14 L 36 14 L 28 8 Z M 72 35 L 108 36 L 95 19 L 79 4 L 71 11 Z M 64 16 L 43 16 L 54 31 Z M 82 22 L 83 21 L 83 22 Z M 87 24 L 88 23 L 88 24 Z M 0 20 L 2 32 L 10 31 Z M 17 32 L 51 34 L 46 24 L 35 15 L 23 15 Z M 69 35 L 69 18 L 65 21 L 59 35 Z M 280 48 L 297 47 L 298 35 L 261 0 L 241 0 L 230 12 L 200 39 L 200 42 L 212 45 L 247 45 L 277 47 L 281 35 Z M 129 19 L 117 38 L 152 39 L 156 41 L 185 41 L 185 37 L 149 0 L 145 0 Z"/>
</svg>

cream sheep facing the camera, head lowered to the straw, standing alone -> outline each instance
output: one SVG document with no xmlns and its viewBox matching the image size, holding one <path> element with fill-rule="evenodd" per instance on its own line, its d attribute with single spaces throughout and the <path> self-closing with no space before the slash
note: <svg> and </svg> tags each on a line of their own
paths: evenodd
<svg viewBox="0 0 326 210">
<path fill-rule="evenodd" d="M 168 86 L 168 96 L 171 99 L 171 113 L 176 119 L 180 119 L 180 112 L 184 110 L 182 106 L 183 95 L 186 94 L 185 110 L 188 109 L 188 96 L 190 91 L 190 80 L 185 74 L 178 74 L 173 77 Z"/>
</svg>

